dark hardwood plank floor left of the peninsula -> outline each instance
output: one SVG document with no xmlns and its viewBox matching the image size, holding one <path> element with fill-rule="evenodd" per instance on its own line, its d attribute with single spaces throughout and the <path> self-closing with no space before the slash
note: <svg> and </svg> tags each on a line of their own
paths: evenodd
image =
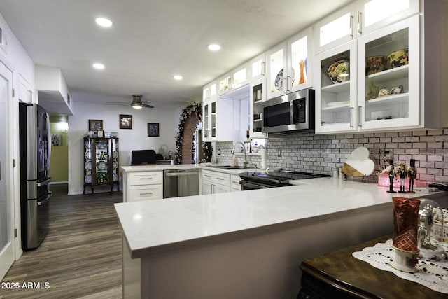
<svg viewBox="0 0 448 299">
<path fill-rule="evenodd" d="M 123 202 L 123 193 L 67 196 L 65 185 L 50 189 L 50 232 L 15 261 L 2 286 L 19 288 L 0 288 L 0 298 L 121 298 L 121 231 L 113 204 Z M 24 282 L 36 284 L 23 288 Z"/>
</svg>

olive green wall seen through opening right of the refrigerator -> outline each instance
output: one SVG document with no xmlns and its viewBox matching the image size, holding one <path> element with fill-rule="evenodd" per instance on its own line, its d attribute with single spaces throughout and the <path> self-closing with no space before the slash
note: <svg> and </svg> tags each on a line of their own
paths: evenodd
<svg viewBox="0 0 448 299">
<path fill-rule="evenodd" d="M 51 120 L 51 118 L 50 118 Z M 69 181 L 69 146 L 67 146 L 67 132 L 61 132 L 62 123 L 50 122 L 51 134 L 61 135 L 61 145 L 51 146 L 50 176 L 52 183 Z"/>
</svg>

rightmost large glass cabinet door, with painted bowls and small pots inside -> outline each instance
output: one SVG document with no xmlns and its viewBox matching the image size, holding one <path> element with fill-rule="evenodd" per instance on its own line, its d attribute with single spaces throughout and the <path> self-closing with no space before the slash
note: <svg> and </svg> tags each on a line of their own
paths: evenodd
<svg viewBox="0 0 448 299">
<path fill-rule="evenodd" d="M 360 129 L 419 125 L 419 16 L 358 39 Z"/>
</svg>

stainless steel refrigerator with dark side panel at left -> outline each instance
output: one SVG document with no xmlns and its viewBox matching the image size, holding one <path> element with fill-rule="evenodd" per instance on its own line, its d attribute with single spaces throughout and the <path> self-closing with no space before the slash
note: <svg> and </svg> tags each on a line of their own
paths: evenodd
<svg viewBox="0 0 448 299">
<path fill-rule="evenodd" d="M 50 223 L 50 116 L 38 104 L 19 104 L 22 249 L 37 248 Z"/>
</svg>

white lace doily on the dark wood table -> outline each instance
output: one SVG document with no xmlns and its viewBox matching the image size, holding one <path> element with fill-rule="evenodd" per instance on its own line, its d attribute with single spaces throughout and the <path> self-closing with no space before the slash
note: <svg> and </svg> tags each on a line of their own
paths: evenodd
<svg viewBox="0 0 448 299">
<path fill-rule="evenodd" d="M 434 242 L 448 251 L 448 244 Z M 393 272 L 396 276 L 422 284 L 434 291 L 448 294 L 448 262 L 435 262 L 419 259 L 415 273 L 401 272 L 390 264 L 395 258 L 395 251 L 392 248 L 392 240 L 386 243 L 378 243 L 373 247 L 366 247 L 363 251 L 353 252 L 352 255 L 358 260 L 363 260 L 380 270 Z"/>
</svg>

